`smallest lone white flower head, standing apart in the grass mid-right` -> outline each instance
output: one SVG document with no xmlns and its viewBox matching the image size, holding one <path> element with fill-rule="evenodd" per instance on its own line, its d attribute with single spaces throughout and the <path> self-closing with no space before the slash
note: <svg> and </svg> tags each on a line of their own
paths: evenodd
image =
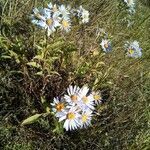
<svg viewBox="0 0 150 150">
<path fill-rule="evenodd" d="M 100 44 L 102 46 L 102 49 L 104 52 L 110 52 L 112 51 L 111 42 L 107 39 L 102 39 L 102 42 Z"/>
</svg>

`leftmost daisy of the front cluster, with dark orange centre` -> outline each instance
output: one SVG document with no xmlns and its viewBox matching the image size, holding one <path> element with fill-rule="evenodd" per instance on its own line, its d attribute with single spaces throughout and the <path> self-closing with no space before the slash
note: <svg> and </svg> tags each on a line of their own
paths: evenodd
<svg viewBox="0 0 150 150">
<path fill-rule="evenodd" d="M 63 99 L 59 100 L 59 98 L 54 98 L 52 105 L 52 111 L 55 113 L 56 117 L 60 117 L 65 112 L 65 102 Z"/>
</svg>

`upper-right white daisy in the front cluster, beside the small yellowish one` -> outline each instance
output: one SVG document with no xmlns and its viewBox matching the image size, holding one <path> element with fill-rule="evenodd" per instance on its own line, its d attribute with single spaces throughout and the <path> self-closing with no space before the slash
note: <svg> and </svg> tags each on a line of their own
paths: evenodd
<svg viewBox="0 0 150 150">
<path fill-rule="evenodd" d="M 88 94 L 89 88 L 84 86 L 79 91 L 78 106 L 84 111 L 86 109 L 94 110 L 94 98 L 92 94 Z"/>
</svg>

